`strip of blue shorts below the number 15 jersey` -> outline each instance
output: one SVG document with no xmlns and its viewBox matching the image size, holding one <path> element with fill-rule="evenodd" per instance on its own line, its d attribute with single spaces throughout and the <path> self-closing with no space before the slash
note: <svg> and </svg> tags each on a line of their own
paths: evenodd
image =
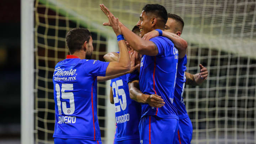
<svg viewBox="0 0 256 144">
<path fill-rule="evenodd" d="M 88 139 L 61 139 L 54 138 L 54 144 L 102 144 L 101 141 Z"/>
</svg>

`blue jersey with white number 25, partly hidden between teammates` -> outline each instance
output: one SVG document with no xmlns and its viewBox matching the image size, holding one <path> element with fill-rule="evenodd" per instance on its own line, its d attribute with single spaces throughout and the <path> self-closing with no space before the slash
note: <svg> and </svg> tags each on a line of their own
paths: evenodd
<svg viewBox="0 0 256 144">
<path fill-rule="evenodd" d="M 117 123 L 115 141 L 139 139 L 141 107 L 130 98 L 126 75 L 112 79 L 110 86 L 113 91 Z"/>
</svg>

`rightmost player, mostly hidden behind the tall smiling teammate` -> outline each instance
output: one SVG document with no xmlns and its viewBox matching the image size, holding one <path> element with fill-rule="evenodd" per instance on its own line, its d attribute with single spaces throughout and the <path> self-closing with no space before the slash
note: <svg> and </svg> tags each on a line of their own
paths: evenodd
<svg viewBox="0 0 256 144">
<path fill-rule="evenodd" d="M 184 26 L 184 22 L 182 18 L 175 14 L 168 14 L 168 20 L 165 25 L 165 31 L 163 32 L 163 36 L 166 36 L 170 39 L 175 39 L 175 37 L 179 37 L 182 33 Z M 171 32 L 171 33 L 168 33 Z M 158 35 L 158 31 L 152 31 L 144 35 L 145 39 L 151 39 Z M 180 47 L 177 43 L 176 47 Z M 207 79 L 208 71 L 201 64 L 200 71 L 201 73 L 192 75 L 190 73 L 186 73 L 186 64 L 187 64 L 187 56 L 186 50 L 179 50 L 179 59 L 178 59 L 178 68 L 177 68 L 177 78 L 175 85 L 175 93 L 174 93 L 174 105 L 178 112 L 179 117 L 179 128 L 178 134 L 176 138 L 176 144 L 190 144 L 192 139 L 193 127 L 190 118 L 188 117 L 185 103 L 183 101 L 183 92 L 186 84 L 189 85 L 201 85 L 204 80 Z"/>
</svg>

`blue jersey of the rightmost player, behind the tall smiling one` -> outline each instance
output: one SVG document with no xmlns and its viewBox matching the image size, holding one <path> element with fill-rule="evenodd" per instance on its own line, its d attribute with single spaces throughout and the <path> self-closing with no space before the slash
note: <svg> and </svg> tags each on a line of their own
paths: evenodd
<svg viewBox="0 0 256 144">
<path fill-rule="evenodd" d="M 177 79 L 174 91 L 174 106 L 177 109 L 179 119 L 187 118 L 188 114 L 186 107 L 183 101 L 183 92 L 186 82 L 186 64 L 187 64 L 187 55 L 185 57 L 178 59 L 178 68 L 177 68 Z"/>
</svg>

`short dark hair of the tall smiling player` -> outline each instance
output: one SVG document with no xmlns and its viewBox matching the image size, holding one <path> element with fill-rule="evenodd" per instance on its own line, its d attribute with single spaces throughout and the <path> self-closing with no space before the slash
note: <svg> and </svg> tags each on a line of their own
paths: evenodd
<svg viewBox="0 0 256 144">
<path fill-rule="evenodd" d="M 164 6 L 159 4 L 146 4 L 143 9 L 145 14 L 153 14 L 156 17 L 160 18 L 160 21 L 163 23 L 163 27 L 168 20 L 167 11 Z"/>
</svg>

